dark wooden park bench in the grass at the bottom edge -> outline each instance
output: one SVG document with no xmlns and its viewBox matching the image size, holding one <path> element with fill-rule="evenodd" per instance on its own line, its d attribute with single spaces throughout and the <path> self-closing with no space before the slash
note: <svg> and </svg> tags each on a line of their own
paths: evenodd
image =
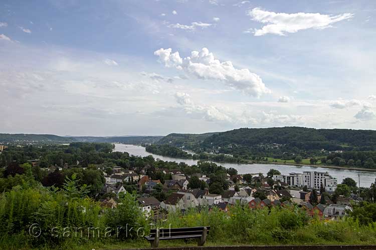
<svg viewBox="0 0 376 250">
<path fill-rule="evenodd" d="M 158 247 L 159 240 L 197 238 L 199 246 L 204 245 L 210 226 L 156 228 L 150 229 L 150 235 L 145 236 L 150 241 L 151 247 Z"/>
</svg>

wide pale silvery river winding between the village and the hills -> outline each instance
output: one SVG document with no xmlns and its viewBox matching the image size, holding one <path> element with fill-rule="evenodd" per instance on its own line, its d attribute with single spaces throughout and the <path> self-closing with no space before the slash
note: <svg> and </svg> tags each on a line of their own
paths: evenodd
<svg viewBox="0 0 376 250">
<path fill-rule="evenodd" d="M 115 144 L 114 151 L 119 152 L 128 152 L 129 154 L 138 155 L 138 156 L 147 156 L 152 155 L 155 159 L 159 158 L 165 161 L 176 161 L 176 162 L 185 162 L 189 165 L 194 165 L 198 160 L 194 159 L 181 159 L 168 156 L 157 155 L 153 153 L 146 152 L 145 147 L 130 145 L 130 144 Z M 236 164 L 236 163 L 224 163 L 216 162 L 219 165 L 224 167 L 234 167 L 238 170 L 239 173 L 259 173 L 262 172 L 266 174 L 270 168 L 277 169 L 282 174 L 288 174 L 290 172 L 303 172 L 303 171 L 320 171 L 328 172 L 331 176 L 337 178 L 338 183 L 341 183 L 342 180 L 346 177 L 353 178 L 358 182 L 358 174 L 360 176 L 360 186 L 369 187 L 371 183 L 375 181 L 376 172 L 368 171 L 359 171 L 359 170 L 347 170 L 347 169 L 334 169 L 334 168 L 324 168 L 316 166 L 293 166 L 293 165 L 282 165 L 282 164 Z"/>
</svg>

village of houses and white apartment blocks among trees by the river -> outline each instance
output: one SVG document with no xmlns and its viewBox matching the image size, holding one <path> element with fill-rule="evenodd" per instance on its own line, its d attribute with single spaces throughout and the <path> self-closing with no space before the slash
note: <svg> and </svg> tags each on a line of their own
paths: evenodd
<svg viewBox="0 0 376 250">
<path fill-rule="evenodd" d="M 358 202 L 355 197 L 339 196 L 336 203 L 333 203 L 328 196 L 322 198 L 322 195 L 333 193 L 337 186 L 336 178 L 327 172 L 304 171 L 303 173 L 292 172 L 288 175 L 274 174 L 271 177 L 272 185 L 270 178 L 261 174 L 253 174 L 252 179 L 248 181 L 243 178 L 242 174 L 232 176 L 227 174 L 229 189 L 222 194 L 217 194 L 210 193 L 208 188 L 190 188 L 190 179 L 193 175 L 186 175 L 179 169 L 157 170 L 170 175 L 171 179 L 166 179 L 162 183 L 159 179 L 149 178 L 146 175 L 146 168 L 142 168 L 141 173 L 136 173 L 134 170 L 113 167 L 112 174 L 104 173 L 106 183 L 103 193 L 113 192 L 115 196 L 102 199 L 102 205 L 116 206 L 116 197 L 121 192 L 126 192 L 124 188 L 126 183 L 137 183 L 137 190 L 140 194 L 137 198 L 138 203 L 149 216 L 161 216 L 170 210 L 185 211 L 192 207 L 202 206 L 209 206 L 210 209 L 217 207 L 226 212 L 229 206 L 239 202 L 248 205 L 250 209 L 295 205 L 306 210 L 310 216 L 335 219 L 346 216 L 351 210 L 351 204 Z M 195 173 L 194 176 L 210 184 L 211 179 L 206 175 Z M 152 195 L 158 187 L 168 193 L 161 201 Z M 316 190 L 316 201 L 311 202 L 312 192 Z"/>
</svg>

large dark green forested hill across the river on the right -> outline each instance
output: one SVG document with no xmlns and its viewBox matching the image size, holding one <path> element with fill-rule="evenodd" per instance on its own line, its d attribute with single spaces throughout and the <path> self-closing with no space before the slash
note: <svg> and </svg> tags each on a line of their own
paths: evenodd
<svg viewBox="0 0 376 250">
<path fill-rule="evenodd" d="M 160 144 L 189 145 L 223 153 L 241 151 L 376 150 L 375 130 L 315 129 L 306 127 L 239 128 L 206 134 L 171 133 Z M 242 153 L 241 153 L 242 154 Z"/>
</svg>

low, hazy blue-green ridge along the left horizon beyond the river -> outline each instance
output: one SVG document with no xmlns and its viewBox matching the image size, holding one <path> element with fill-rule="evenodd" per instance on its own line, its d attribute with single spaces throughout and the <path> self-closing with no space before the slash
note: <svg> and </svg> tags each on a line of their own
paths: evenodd
<svg viewBox="0 0 376 250">
<path fill-rule="evenodd" d="M 100 137 L 100 136 L 58 136 L 54 134 L 10 134 L 0 133 L 1 143 L 71 143 L 71 142 L 119 142 L 126 144 L 155 143 L 163 136 L 119 136 L 119 137 Z"/>
</svg>

